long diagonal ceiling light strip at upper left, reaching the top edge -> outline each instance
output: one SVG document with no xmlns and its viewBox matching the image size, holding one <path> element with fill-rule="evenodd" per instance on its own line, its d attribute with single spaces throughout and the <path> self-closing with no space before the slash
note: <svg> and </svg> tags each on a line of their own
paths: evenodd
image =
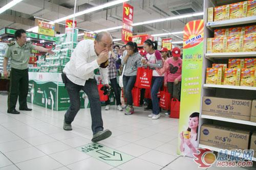
<svg viewBox="0 0 256 170">
<path fill-rule="evenodd" d="M 81 12 L 77 12 L 75 14 L 71 14 L 71 15 L 56 19 L 56 20 L 51 21 L 49 23 L 53 24 L 53 23 L 56 23 L 56 22 L 61 22 L 61 21 L 64 21 L 66 19 L 74 18 L 74 17 L 80 16 L 80 15 L 83 15 L 83 14 L 93 12 L 93 11 L 98 11 L 100 9 L 108 8 L 108 7 L 111 7 L 111 6 L 114 6 L 114 5 L 117 5 L 117 4 L 121 4 L 121 3 L 124 3 L 124 2 L 127 2 L 127 1 L 131 1 L 131 0 L 117 0 L 117 1 L 110 2 L 110 3 L 105 3 L 105 4 L 99 5 L 97 7 L 89 8 L 87 10 L 83 10 Z M 35 32 L 35 30 L 38 30 L 38 27 L 33 27 L 31 29 L 28 29 L 27 31 Z M 80 36 L 81 36 L 81 34 L 80 34 Z"/>
</svg>

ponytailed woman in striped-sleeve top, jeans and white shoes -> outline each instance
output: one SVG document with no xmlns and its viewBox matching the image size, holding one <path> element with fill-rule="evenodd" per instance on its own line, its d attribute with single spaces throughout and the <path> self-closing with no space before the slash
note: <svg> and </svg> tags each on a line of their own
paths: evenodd
<svg viewBox="0 0 256 170">
<path fill-rule="evenodd" d="M 159 100 L 157 97 L 157 93 L 164 81 L 164 72 L 162 71 L 164 70 L 164 63 L 160 52 L 157 50 L 157 41 L 147 39 L 144 41 L 143 48 L 147 52 L 146 59 L 148 60 L 143 60 L 143 65 L 147 65 L 151 69 L 153 69 L 153 78 L 151 84 L 151 98 L 153 110 L 152 114 L 148 115 L 148 117 L 152 117 L 152 119 L 154 120 L 160 117 Z"/>
</svg>

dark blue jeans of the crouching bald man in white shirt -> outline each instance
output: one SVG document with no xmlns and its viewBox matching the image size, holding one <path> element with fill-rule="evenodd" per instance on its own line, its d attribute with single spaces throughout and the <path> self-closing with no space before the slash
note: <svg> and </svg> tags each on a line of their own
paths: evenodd
<svg viewBox="0 0 256 170">
<path fill-rule="evenodd" d="M 67 78 L 67 77 L 66 77 Z M 70 107 L 65 114 L 65 122 L 71 124 L 80 109 L 80 90 L 82 89 L 87 95 L 90 102 L 90 110 L 92 117 L 93 134 L 103 130 L 103 121 L 101 117 L 101 103 L 99 100 L 99 92 L 97 81 L 89 79 L 84 86 L 74 84 L 67 78 L 66 89 L 69 93 Z"/>
</svg>

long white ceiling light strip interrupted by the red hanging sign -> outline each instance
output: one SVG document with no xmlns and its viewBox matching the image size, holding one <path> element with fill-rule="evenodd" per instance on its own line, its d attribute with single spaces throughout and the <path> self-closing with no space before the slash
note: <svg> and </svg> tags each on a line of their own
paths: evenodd
<svg viewBox="0 0 256 170">
<path fill-rule="evenodd" d="M 133 23 L 132 26 L 140 26 L 140 25 L 145 25 L 145 24 L 148 24 L 148 23 L 156 23 L 156 22 L 162 22 L 162 21 L 166 21 L 166 20 L 188 18 L 188 17 L 200 16 L 200 15 L 204 15 L 204 13 L 203 12 L 198 12 L 198 13 L 187 14 L 187 15 L 172 16 L 172 17 L 168 17 L 168 18 L 155 19 L 155 20 L 149 20 L 149 21 L 144 21 L 144 22 L 137 22 L 137 23 Z M 102 30 L 96 30 L 96 31 L 94 31 L 94 33 L 98 33 L 98 32 L 101 32 L 101 31 L 118 30 L 118 29 L 121 29 L 121 28 L 122 28 L 122 26 L 108 28 L 108 29 L 102 29 Z M 91 33 L 93 33 L 93 32 L 91 32 Z"/>
</svg>

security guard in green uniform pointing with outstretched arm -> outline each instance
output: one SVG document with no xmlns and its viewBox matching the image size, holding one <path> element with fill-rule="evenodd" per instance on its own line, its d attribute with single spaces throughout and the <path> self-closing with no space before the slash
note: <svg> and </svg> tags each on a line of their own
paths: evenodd
<svg viewBox="0 0 256 170">
<path fill-rule="evenodd" d="M 8 59 L 11 60 L 10 71 L 10 87 L 8 94 L 8 113 L 19 114 L 16 111 L 16 103 L 19 101 L 19 110 L 31 111 L 32 109 L 27 106 L 27 95 L 29 89 L 29 75 L 28 75 L 28 62 L 31 56 L 31 50 L 38 50 L 40 52 L 47 52 L 54 54 L 52 50 L 32 45 L 27 41 L 26 31 L 23 29 L 15 32 L 16 41 L 9 43 L 4 58 L 4 76 L 8 78 L 7 63 Z"/>
</svg>

